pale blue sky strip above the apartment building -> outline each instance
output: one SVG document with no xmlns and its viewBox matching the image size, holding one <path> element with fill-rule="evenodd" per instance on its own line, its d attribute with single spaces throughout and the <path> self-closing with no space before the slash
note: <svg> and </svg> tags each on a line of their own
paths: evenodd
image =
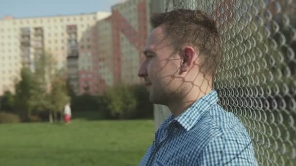
<svg viewBox="0 0 296 166">
<path fill-rule="evenodd" d="M 111 11 L 122 0 L 0 0 L 0 18 L 74 15 Z"/>
</svg>

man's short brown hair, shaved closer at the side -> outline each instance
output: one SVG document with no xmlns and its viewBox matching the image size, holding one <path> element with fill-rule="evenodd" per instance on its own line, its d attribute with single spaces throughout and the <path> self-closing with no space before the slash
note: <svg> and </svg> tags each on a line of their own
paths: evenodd
<svg viewBox="0 0 296 166">
<path fill-rule="evenodd" d="M 201 10 L 178 9 L 154 14 L 150 18 L 152 28 L 165 25 L 167 37 L 176 50 L 185 43 L 200 50 L 200 70 L 214 76 L 221 62 L 221 41 L 216 22 Z"/>
</svg>

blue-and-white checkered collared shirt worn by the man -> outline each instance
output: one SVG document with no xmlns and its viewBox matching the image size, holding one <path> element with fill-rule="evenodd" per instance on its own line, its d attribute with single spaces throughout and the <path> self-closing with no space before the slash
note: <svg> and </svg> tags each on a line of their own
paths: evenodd
<svg viewBox="0 0 296 166">
<path fill-rule="evenodd" d="M 213 90 L 166 118 L 140 166 L 257 166 L 246 129 L 217 102 Z"/>
</svg>

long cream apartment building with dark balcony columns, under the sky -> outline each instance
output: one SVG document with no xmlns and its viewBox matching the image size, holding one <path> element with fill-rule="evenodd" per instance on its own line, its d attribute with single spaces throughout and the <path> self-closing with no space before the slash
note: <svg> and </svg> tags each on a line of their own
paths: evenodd
<svg viewBox="0 0 296 166">
<path fill-rule="evenodd" d="M 0 95 L 14 90 L 22 66 L 34 71 L 35 61 L 43 52 L 53 55 L 57 68 L 69 67 L 76 93 L 84 93 L 86 88 L 95 90 L 92 59 L 97 57 L 96 25 L 108 16 L 110 13 L 96 12 L 0 19 Z"/>
</svg>

